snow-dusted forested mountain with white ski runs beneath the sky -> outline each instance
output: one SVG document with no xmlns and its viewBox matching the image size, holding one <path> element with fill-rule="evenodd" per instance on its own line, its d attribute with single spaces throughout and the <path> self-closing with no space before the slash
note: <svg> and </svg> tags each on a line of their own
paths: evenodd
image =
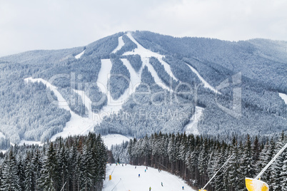
<svg viewBox="0 0 287 191">
<path fill-rule="evenodd" d="M 116 33 L 0 58 L 0 146 L 57 136 L 287 130 L 287 42 Z M 9 144 L 8 144 L 9 145 Z"/>
</svg>

